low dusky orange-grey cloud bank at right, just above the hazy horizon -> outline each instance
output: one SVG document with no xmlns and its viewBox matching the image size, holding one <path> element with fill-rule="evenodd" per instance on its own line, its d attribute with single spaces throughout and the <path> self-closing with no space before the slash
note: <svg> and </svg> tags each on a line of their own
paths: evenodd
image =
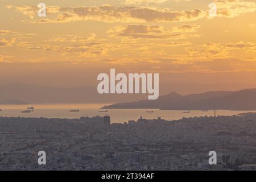
<svg viewBox="0 0 256 182">
<path fill-rule="evenodd" d="M 209 59 L 207 61 L 187 61 L 165 58 L 142 58 L 142 59 L 120 59 L 105 60 L 109 64 L 129 64 L 130 69 L 143 67 L 143 71 L 159 73 L 231 73 L 231 72 L 251 72 L 256 71 L 256 61 L 247 61 L 236 57 Z M 160 68 L 160 69 L 159 69 Z M 150 71 L 151 70 L 151 71 Z"/>
</svg>

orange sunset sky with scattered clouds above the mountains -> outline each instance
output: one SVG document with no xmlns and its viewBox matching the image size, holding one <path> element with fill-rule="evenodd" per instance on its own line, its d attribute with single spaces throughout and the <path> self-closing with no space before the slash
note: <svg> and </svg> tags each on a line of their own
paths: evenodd
<svg viewBox="0 0 256 182">
<path fill-rule="evenodd" d="M 97 85 L 115 68 L 159 73 L 164 93 L 256 88 L 255 17 L 255 0 L 0 0 L 0 85 Z"/>
</svg>

